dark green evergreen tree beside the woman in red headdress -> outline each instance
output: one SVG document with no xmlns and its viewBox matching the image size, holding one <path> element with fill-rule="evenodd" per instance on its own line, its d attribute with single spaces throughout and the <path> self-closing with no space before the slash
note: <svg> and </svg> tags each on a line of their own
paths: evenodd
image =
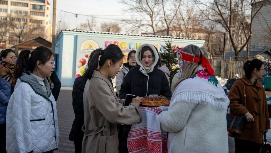
<svg viewBox="0 0 271 153">
<path fill-rule="evenodd" d="M 176 52 L 174 52 L 174 48 L 171 43 L 171 39 L 165 40 L 166 45 L 163 45 L 163 49 L 160 50 L 160 57 L 162 61 L 162 65 L 166 64 L 167 68 L 170 71 L 170 84 L 173 79 L 173 76 L 179 71 L 179 64 L 176 56 Z"/>
</svg>

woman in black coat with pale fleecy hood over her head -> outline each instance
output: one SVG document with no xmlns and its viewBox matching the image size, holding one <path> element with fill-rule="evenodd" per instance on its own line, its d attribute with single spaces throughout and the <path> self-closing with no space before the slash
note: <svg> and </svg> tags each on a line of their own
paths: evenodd
<svg viewBox="0 0 271 153">
<path fill-rule="evenodd" d="M 131 69 L 120 88 L 120 99 L 125 99 L 126 94 L 134 94 L 139 97 L 150 94 L 163 95 L 170 100 L 172 93 L 165 73 L 158 69 L 160 55 L 157 48 L 151 44 L 142 44 L 136 50 L 136 68 Z M 120 152 L 128 152 L 127 136 L 131 126 L 124 126 L 120 133 Z"/>
</svg>

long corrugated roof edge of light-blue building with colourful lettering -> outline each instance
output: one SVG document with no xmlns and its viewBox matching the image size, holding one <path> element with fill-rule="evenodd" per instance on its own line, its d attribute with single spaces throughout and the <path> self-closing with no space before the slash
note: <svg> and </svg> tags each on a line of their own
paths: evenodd
<svg viewBox="0 0 271 153">
<path fill-rule="evenodd" d="M 124 36 L 142 36 L 142 37 L 159 37 L 159 38 L 175 38 L 175 39 L 202 40 L 202 39 L 181 38 L 181 37 L 171 37 L 171 36 L 141 35 L 141 34 L 123 34 L 123 33 L 114 33 L 114 32 L 70 30 L 70 29 L 66 29 L 66 30 L 62 30 L 62 31 L 75 31 L 75 32 L 85 32 L 85 33 L 102 33 L 102 34 L 114 34 L 114 35 L 124 35 Z"/>
</svg>

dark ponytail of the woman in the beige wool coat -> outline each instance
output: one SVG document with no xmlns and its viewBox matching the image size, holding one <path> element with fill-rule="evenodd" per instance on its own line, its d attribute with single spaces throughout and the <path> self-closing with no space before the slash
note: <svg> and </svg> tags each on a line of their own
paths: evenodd
<svg viewBox="0 0 271 153">
<path fill-rule="evenodd" d="M 92 53 L 89 55 L 88 69 L 84 73 L 84 77 L 91 79 L 94 70 L 98 67 L 99 55 L 101 50 L 101 48 L 93 50 Z"/>
</svg>

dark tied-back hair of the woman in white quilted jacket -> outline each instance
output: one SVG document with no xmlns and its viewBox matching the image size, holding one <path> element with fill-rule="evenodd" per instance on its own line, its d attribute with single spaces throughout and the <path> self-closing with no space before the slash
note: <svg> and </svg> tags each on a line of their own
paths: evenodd
<svg viewBox="0 0 271 153">
<path fill-rule="evenodd" d="M 33 72 L 36 68 L 37 61 L 41 64 L 48 62 L 51 56 L 55 56 L 54 53 L 43 46 L 37 47 L 30 55 L 30 50 L 22 50 L 18 56 L 18 60 L 15 66 L 15 78 L 19 78 L 23 72 Z"/>
</svg>

